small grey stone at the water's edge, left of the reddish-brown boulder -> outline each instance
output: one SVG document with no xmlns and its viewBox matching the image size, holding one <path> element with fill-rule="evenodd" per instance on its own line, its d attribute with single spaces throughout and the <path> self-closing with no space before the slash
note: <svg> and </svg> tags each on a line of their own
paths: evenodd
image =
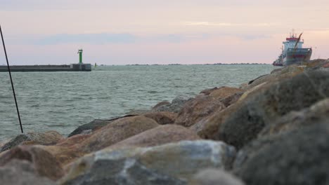
<svg viewBox="0 0 329 185">
<path fill-rule="evenodd" d="M 179 113 L 181 111 L 181 108 L 183 108 L 184 104 L 191 100 L 192 98 L 185 95 L 179 95 L 172 100 L 171 104 L 164 104 L 162 106 L 158 106 L 153 111 L 169 111 L 174 113 Z"/>
</svg>

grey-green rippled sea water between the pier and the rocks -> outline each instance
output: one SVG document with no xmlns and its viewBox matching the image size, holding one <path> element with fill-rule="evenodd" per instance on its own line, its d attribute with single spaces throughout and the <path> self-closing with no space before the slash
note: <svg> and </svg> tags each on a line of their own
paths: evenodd
<svg viewBox="0 0 329 185">
<path fill-rule="evenodd" d="M 108 66 L 91 72 L 15 72 L 24 132 L 68 135 L 93 119 L 150 109 L 177 95 L 241 83 L 269 74 L 270 64 Z M 8 73 L 0 73 L 0 141 L 20 134 Z"/>
</svg>

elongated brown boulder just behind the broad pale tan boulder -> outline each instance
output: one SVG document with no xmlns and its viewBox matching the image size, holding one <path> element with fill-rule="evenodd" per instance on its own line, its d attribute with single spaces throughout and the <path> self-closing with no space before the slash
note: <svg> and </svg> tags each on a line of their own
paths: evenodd
<svg viewBox="0 0 329 185">
<path fill-rule="evenodd" d="M 156 121 L 145 116 L 120 118 L 94 132 L 79 145 L 79 148 L 86 153 L 98 151 L 157 126 L 159 124 Z"/>
</svg>

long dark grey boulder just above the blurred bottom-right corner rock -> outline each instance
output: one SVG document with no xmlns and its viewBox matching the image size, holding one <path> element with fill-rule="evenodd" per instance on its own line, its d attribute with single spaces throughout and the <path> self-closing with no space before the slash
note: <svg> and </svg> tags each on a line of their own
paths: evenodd
<svg viewBox="0 0 329 185">
<path fill-rule="evenodd" d="M 221 124 L 219 139 L 239 149 L 256 138 L 265 125 L 290 111 L 299 111 L 329 96 L 329 73 L 310 71 L 274 83 L 245 101 Z"/>
</svg>

